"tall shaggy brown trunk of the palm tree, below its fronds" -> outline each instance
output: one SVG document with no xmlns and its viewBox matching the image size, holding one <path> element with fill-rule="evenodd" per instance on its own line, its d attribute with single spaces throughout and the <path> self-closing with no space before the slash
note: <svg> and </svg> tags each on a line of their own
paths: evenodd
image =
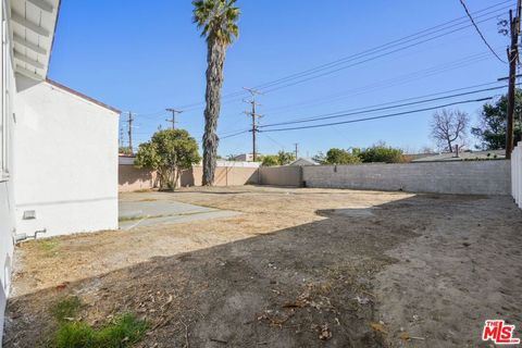
<svg viewBox="0 0 522 348">
<path fill-rule="evenodd" d="M 221 110 L 221 88 L 223 86 L 223 66 L 225 47 L 215 38 L 209 37 L 207 53 L 207 91 L 204 99 L 204 135 L 203 135 L 203 186 L 214 184 L 214 173 L 220 139 L 215 133 Z"/>
</svg>

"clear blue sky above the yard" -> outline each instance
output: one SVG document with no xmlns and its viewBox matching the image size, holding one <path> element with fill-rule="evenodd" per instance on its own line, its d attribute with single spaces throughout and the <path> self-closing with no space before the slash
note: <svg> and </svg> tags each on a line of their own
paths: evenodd
<svg viewBox="0 0 522 348">
<path fill-rule="evenodd" d="M 500 2 L 467 1 L 471 11 Z M 227 51 L 224 95 L 240 91 L 244 86 L 276 80 L 464 15 L 459 0 L 238 0 L 237 3 L 243 11 L 240 37 Z M 499 11 L 485 16 L 490 20 L 478 24 L 502 58 L 508 39 L 497 33 L 497 16 L 506 17 L 507 10 L 501 9 L 509 4 L 514 7 L 515 1 L 495 8 Z M 135 145 L 146 141 L 160 124 L 167 126 L 165 108 L 184 108 L 203 101 L 207 48 L 191 23 L 191 10 L 188 0 L 62 0 L 49 77 L 121 110 L 137 113 Z M 477 55 L 481 53 L 484 54 Z M 459 61 L 462 63 L 455 63 Z M 425 70 L 430 70 L 428 73 L 422 73 Z M 468 27 L 260 96 L 259 112 L 264 115 L 261 124 L 493 83 L 506 76 L 507 71 L 506 64 L 487 52 L 474 28 Z M 421 107 L 437 103 L 442 102 Z M 240 100 L 225 99 L 219 133 L 227 135 L 247 129 L 250 121 L 243 114 L 246 108 Z M 480 103 L 458 108 L 469 112 L 476 123 Z M 332 147 L 366 147 L 382 140 L 414 152 L 424 146 L 433 147 L 428 137 L 432 113 L 261 133 L 258 151 L 293 150 L 294 144 L 299 142 L 300 154 L 313 156 Z M 178 120 L 178 127 L 201 140 L 202 107 L 188 108 Z M 122 127 L 126 134 L 125 125 Z M 245 133 L 223 139 L 219 153 L 251 151 L 250 137 Z"/>
</svg>

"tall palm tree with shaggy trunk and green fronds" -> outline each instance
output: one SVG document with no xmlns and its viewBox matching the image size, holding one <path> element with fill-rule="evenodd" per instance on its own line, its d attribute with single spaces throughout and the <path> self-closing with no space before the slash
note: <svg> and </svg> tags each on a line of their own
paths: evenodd
<svg viewBox="0 0 522 348">
<path fill-rule="evenodd" d="M 204 100 L 204 135 L 203 135 L 203 179 L 204 186 L 214 183 L 217 145 L 215 134 L 221 109 L 221 88 L 223 86 L 223 65 L 226 48 L 239 35 L 237 21 L 239 9 L 236 0 L 198 0 L 194 4 L 194 23 L 207 37 L 207 91 Z"/>
</svg>

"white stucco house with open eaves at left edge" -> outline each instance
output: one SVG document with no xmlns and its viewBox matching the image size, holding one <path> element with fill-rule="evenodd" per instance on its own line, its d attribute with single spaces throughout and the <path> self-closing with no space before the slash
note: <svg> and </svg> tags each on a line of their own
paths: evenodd
<svg viewBox="0 0 522 348">
<path fill-rule="evenodd" d="M 47 78 L 60 0 L 0 0 L 0 347 L 16 240 L 117 228 L 120 111 Z"/>
</svg>

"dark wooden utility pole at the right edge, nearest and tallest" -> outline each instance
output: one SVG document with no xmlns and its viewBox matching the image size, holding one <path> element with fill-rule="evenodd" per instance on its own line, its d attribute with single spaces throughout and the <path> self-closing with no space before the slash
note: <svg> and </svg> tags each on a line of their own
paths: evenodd
<svg viewBox="0 0 522 348">
<path fill-rule="evenodd" d="M 513 125 L 515 108 L 515 86 L 517 86 L 517 64 L 519 62 L 519 37 L 520 37 L 520 17 L 522 10 L 522 0 L 517 1 L 517 15 L 513 17 L 513 11 L 509 10 L 509 24 L 511 32 L 511 46 L 508 49 L 509 60 L 509 89 L 508 89 L 508 120 L 506 126 L 506 159 L 511 159 L 513 151 Z"/>
</svg>

